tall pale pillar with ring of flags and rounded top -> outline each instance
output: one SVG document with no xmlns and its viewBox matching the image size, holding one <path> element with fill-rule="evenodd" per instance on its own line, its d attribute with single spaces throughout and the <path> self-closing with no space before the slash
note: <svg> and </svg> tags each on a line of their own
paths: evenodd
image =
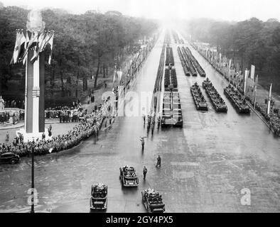
<svg viewBox="0 0 280 227">
<path fill-rule="evenodd" d="M 26 62 L 25 126 L 24 129 L 17 131 L 17 134 L 23 135 L 23 142 L 41 139 L 42 133 L 45 133 L 46 139 L 49 138 L 48 130 L 45 129 L 45 48 L 50 46 L 51 56 L 54 35 L 54 31 L 48 33 L 44 31 L 45 22 L 42 21 L 40 11 L 34 10 L 28 13 L 26 28 L 31 33 L 31 38 L 28 38 L 28 42 L 25 41 L 24 47 L 23 56 L 26 56 L 27 52 L 27 59 L 23 61 L 25 57 L 22 57 L 20 60 L 14 60 L 14 62 Z M 20 35 L 22 36 L 22 33 Z M 28 32 L 26 32 L 27 37 Z M 50 60 L 51 58 L 49 64 Z"/>
</svg>

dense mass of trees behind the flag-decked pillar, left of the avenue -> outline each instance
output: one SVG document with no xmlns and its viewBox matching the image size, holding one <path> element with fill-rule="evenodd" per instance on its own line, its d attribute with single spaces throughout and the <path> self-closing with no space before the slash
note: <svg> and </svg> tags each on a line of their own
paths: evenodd
<svg viewBox="0 0 280 227">
<path fill-rule="evenodd" d="M 23 65 L 11 67 L 16 28 L 26 28 L 28 11 L 16 6 L 0 12 L 0 75 L 1 89 L 16 75 L 24 76 Z M 74 15 L 60 10 L 42 11 L 45 30 L 54 30 L 55 39 L 51 65 L 46 65 L 46 85 L 50 94 L 60 89 L 63 96 L 77 96 L 79 82 L 87 89 L 87 79 L 105 77 L 108 67 L 121 62 L 135 48 L 139 39 L 155 32 L 157 24 L 143 18 L 121 13 L 87 13 Z M 23 80 L 24 82 L 24 80 Z M 24 84 L 24 83 L 23 83 Z M 4 92 L 2 90 L 2 92 Z"/>
</svg>

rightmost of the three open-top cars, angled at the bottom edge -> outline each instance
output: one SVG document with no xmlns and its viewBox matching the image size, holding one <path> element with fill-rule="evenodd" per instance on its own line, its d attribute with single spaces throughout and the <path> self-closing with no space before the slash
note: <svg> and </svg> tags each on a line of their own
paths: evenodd
<svg viewBox="0 0 280 227">
<path fill-rule="evenodd" d="M 141 194 L 143 204 L 148 213 L 163 213 L 166 210 L 161 195 L 154 189 L 146 189 Z"/>
</svg>

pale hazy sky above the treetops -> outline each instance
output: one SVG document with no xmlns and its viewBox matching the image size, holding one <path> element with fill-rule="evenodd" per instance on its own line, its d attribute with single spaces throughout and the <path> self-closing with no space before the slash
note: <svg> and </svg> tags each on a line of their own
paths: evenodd
<svg viewBox="0 0 280 227">
<path fill-rule="evenodd" d="M 278 18 L 279 0 L 0 0 L 4 6 L 31 6 L 60 8 L 71 13 L 87 10 L 120 11 L 129 16 L 144 16 L 161 20 L 188 18 L 215 18 L 243 21 L 257 17 L 262 21 Z"/>
</svg>

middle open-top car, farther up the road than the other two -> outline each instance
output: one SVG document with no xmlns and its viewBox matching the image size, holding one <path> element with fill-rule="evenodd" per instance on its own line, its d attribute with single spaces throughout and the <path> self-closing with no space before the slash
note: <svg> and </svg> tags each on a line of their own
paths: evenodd
<svg viewBox="0 0 280 227">
<path fill-rule="evenodd" d="M 136 187 L 139 184 L 134 167 L 128 165 L 119 167 L 119 179 L 124 187 Z"/>
</svg>

